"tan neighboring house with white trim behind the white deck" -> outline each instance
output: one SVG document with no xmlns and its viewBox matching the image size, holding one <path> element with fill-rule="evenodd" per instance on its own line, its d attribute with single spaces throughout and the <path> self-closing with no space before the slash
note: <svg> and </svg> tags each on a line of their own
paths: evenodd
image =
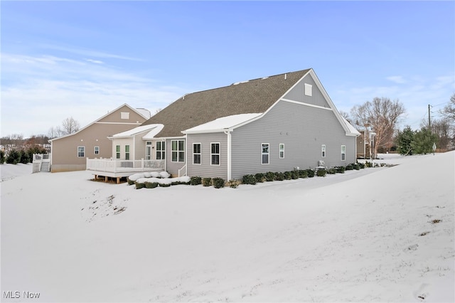
<svg viewBox="0 0 455 303">
<path fill-rule="evenodd" d="M 87 157 L 110 158 L 112 142 L 107 137 L 137 127 L 149 118 L 148 110 L 124 104 L 78 132 L 49 140 L 50 171 L 85 170 Z"/>
</svg>

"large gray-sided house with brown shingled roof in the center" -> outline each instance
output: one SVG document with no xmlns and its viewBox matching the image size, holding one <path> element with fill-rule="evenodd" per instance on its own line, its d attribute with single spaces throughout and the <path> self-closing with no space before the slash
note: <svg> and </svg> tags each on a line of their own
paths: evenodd
<svg viewBox="0 0 455 303">
<path fill-rule="evenodd" d="M 113 159 L 149 166 L 165 160 L 175 176 L 228 180 L 319 161 L 346 166 L 355 162 L 358 135 L 309 69 L 184 95 L 109 139 Z"/>
</svg>

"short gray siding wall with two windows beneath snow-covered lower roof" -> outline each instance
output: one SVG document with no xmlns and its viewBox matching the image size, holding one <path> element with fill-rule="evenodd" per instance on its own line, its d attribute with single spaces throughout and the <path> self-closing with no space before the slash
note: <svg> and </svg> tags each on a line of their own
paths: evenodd
<svg viewBox="0 0 455 303">
<path fill-rule="evenodd" d="M 228 135 L 224 132 L 188 134 L 188 176 L 228 179 Z M 200 143 L 201 164 L 193 164 L 193 143 Z M 220 165 L 210 165 L 211 143 L 220 143 Z"/>
</svg>

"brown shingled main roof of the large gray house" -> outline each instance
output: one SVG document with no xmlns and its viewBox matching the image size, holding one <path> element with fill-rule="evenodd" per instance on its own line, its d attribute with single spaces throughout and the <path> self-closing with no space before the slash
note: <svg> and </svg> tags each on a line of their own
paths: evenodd
<svg viewBox="0 0 455 303">
<path fill-rule="evenodd" d="M 299 70 L 193 92 L 174 101 L 142 125 L 164 124 L 156 137 L 181 137 L 181 131 L 220 117 L 265 112 L 308 72 L 309 69 Z"/>
</svg>

